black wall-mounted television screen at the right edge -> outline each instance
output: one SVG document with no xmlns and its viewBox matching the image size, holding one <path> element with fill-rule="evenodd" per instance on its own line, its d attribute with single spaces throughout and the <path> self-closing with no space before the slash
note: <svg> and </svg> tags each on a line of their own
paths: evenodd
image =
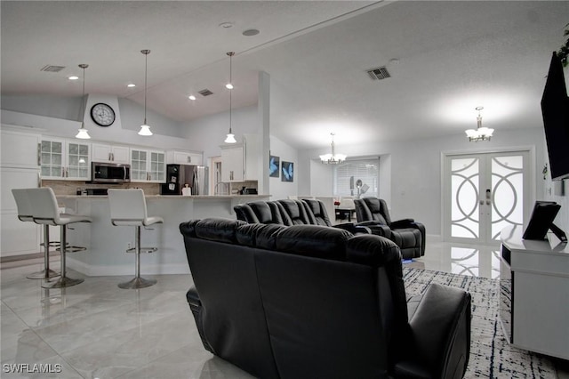
<svg viewBox="0 0 569 379">
<path fill-rule="evenodd" d="M 541 97 L 541 115 L 545 129 L 551 179 L 569 177 L 569 97 L 565 87 L 563 66 L 553 52 L 548 79 Z"/>
</svg>

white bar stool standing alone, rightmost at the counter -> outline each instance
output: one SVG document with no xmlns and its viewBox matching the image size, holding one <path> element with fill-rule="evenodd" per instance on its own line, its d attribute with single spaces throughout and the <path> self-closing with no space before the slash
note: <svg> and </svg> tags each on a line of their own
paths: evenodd
<svg viewBox="0 0 569 379">
<path fill-rule="evenodd" d="M 144 288 L 156 284 L 156 279 L 140 278 L 140 253 L 154 253 L 157 247 L 140 247 L 140 227 L 147 227 L 155 223 L 163 223 L 164 219 L 158 216 L 148 217 L 146 199 L 142 189 L 108 189 L 108 203 L 110 206 L 110 222 L 115 226 L 134 227 L 134 247 L 126 253 L 134 252 L 135 277 L 128 282 L 120 283 L 120 288 Z"/>
</svg>

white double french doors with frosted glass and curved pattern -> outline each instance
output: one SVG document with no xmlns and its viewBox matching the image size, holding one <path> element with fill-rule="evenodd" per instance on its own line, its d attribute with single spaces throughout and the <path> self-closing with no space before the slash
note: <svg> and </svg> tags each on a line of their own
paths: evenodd
<svg viewBox="0 0 569 379">
<path fill-rule="evenodd" d="M 533 194 L 530 150 L 446 155 L 444 239 L 493 244 L 509 225 L 524 225 Z"/>
</svg>

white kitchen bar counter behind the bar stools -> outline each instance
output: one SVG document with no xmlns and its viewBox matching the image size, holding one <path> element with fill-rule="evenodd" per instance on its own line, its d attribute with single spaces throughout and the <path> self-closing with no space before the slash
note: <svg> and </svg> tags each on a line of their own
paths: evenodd
<svg viewBox="0 0 569 379">
<path fill-rule="evenodd" d="M 58 196 L 70 214 L 92 217 L 92 223 L 76 223 L 68 230 L 68 241 L 87 250 L 68 254 L 68 267 L 87 276 L 134 275 L 134 227 L 113 226 L 107 196 Z M 188 260 L 180 234 L 180 222 L 206 217 L 235 219 L 233 207 L 270 195 L 147 196 L 148 215 L 161 216 L 163 224 L 142 230 L 141 246 L 156 246 L 153 254 L 140 254 L 140 275 L 188 273 Z"/>
</svg>

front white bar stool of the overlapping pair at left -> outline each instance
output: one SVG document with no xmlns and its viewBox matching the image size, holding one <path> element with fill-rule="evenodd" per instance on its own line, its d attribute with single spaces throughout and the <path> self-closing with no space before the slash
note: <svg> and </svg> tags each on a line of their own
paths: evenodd
<svg viewBox="0 0 569 379">
<path fill-rule="evenodd" d="M 67 230 L 68 224 L 75 222 L 91 222 L 91 217 L 80 214 L 60 214 L 57 198 L 53 190 L 49 187 L 41 189 L 28 189 L 28 196 L 33 206 L 34 222 L 43 225 L 53 225 L 60 227 L 60 253 L 61 253 L 61 276 L 57 281 L 45 282 L 44 288 L 64 288 L 83 283 L 84 279 L 73 279 L 65 276 L 65 257 L 66 254 L 84 250 L 84 247 L 68 246 Z"/>
</svg>

